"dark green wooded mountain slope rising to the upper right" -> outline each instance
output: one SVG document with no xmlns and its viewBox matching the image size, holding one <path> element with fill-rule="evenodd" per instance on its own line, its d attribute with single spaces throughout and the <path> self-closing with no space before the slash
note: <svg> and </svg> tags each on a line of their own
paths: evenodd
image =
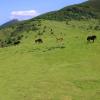
<svg viewBox="0 0 100 100">
<path fill-rule="evenodd" d="M 64 7 L 58 11 L 49 12 L 36 19 L 66 20 L 100 18 L 100 0 L 88 0 L 81 4 Z"/>
</svg>

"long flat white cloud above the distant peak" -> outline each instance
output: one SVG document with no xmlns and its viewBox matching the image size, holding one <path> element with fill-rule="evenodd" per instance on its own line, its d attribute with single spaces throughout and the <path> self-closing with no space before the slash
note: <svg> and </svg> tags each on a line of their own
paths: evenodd
<svg viewBox="0 0 100 100">
<path fill-rule="evenodd" d="M 28 19 L 38 15 L 39 13 L 36 10 L 12 11 L 11 19 Z"/>
</svg>

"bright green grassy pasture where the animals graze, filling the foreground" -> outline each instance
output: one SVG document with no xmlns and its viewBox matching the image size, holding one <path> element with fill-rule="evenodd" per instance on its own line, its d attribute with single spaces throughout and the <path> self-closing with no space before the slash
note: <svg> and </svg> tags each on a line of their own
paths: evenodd
<svg viewBox="0 0 100 100">
<path fill-rule="evenodd" d="M 0 100 L 100 100 L 100 31 L 86 30 L 93 23 L 42 21 L 43 44 L 30 31 L 20 45 L 1 48 Z M 95 43 L 86 41 L 91 33 Z"/>
</svg>

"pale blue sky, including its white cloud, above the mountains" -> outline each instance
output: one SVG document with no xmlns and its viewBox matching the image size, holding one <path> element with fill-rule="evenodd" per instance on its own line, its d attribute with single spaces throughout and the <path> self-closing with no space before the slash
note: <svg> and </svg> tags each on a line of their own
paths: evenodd
<svg viewBox="0 0 100 100">
<path fill-rule="evenodd" d="M 30 19 L 86 0 L 0 0 L 0 25 L 12 20 Z"/>
</svg>

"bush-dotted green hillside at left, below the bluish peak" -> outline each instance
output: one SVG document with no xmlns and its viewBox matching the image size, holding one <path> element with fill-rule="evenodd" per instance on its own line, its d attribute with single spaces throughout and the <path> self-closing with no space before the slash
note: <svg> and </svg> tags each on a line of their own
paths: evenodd
<svg viewBox="0 0 100 100">
<path fill-rule="evenodd" d="M 36 31 L 41 26 L 40 20 L 26 20 L 0 27 L 0 47 L 8 47 L 21 43 L 23 37 L 30 31 Z"/>
</svg>

